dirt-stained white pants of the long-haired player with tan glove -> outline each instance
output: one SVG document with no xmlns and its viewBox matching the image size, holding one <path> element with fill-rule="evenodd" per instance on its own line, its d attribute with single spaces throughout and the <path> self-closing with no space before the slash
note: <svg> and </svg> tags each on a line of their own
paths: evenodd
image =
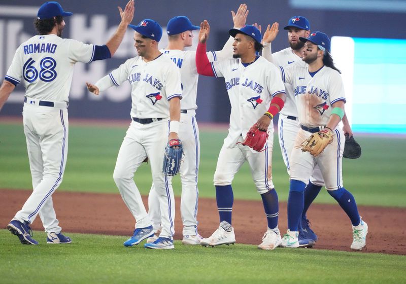
<svg viewBox="0 0 406 284">
<path fill-rule="evenodd" d="M 300 148 L 293 148 L 290 156 L 290 179 L 305 184 L 316 166 L 320 167 L 327 190 L 337 190 L 343 187 L 342 160 L 345 144 L 344 132 L 341 128 L 333 131 L 333 141 L 317 157 L 309 152 L 302 152 Z M 297 133 L 295 145 L 299 145 L 309 138 L 312 133 L 300 129 Z"/>
</svg>

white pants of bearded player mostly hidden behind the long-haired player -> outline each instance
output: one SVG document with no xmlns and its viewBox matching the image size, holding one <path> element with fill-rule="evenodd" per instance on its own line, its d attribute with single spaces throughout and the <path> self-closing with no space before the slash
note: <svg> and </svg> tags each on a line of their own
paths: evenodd
<svg viewBox="0 0 406 284">
<path fill-rule="evenodd" d="M 292 150 L 295 146 L 299 144 L 295 144 L 295 139 L 297 136 L 297 132 L 299 132 L 300 124 L 298 119 L 292 120 L 288 118 L 286 115 L 279 114 L 278 119 L 278 139 L 279 139 L 279 146 L 281 147 L 283 161 L 285 162 L 286 168 L 288 173 L 290 173 L 290 155 L 292 154 Z M 314 185 L 323 186 L 324 180 L 323 175 L 321 174 L 320 168 L 318 166 L 315 167 L 312 176 L 310 177 L 310 181 Z M 305 182 L 306 184 L 309 181 Z"/>
</svg>

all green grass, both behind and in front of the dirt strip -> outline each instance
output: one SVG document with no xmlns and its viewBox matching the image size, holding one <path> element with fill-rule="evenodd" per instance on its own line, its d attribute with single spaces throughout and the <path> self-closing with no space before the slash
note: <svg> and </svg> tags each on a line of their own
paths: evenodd
<svg viewBox="0 0 406 284">
<path fill-rule="evenodd" d="M 69 155 L 59 190 L 118 194 L 112 174 L 125 127 L 70 127 Z M 201 131 L 199 190 L 214 197 L 212 184 L 216 160 L 226 131 Z M 358 204 L 406 206 L 404 174 L 406 139 L 357 137 L 363 154 L 344 160 L 345 185 Z M 275 138 L 274 184 L 280 200 L 286 200 L 288 175 Z M 384 146 L 386 149 L 384 149 Z M 0 188 L 31 189 L 22 126 L 0 123 Z M 144 164 L 135 180 L 143 194 L 151 183 Z M 180 194 L 179 177 L 174 189 Z M 248 166 L 233 182 L 234 197 L 256 199 Z M 317 202 L 335 203 L 324 191 Z M 70 245 L 47 245 L 44 232 L 35 232 L 38 246 L 21 245 L 7 230 L 0 230 L 2 283 L 399 283 L 406 279 L 406 257 L 323 250 L 259 251 L 254 245 L 236 244 L 205 248 L 183 246 L 175 250 L 150 251 L 141 245 L 126 248 L 123 236 L 69 234 Z"/>
</svg>

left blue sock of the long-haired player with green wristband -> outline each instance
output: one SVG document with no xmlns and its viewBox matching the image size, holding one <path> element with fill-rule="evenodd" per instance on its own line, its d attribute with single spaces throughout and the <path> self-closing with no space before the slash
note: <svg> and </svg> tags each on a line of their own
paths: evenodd
<svg viewBox="0 0 406 284">
<path fill-rule="evenodd" d="M 288 197 L 288 229 L 297 231 L 303 212 L 303 191 L 306 184 L 296 180 L 290 180 Z"/>
</svg>

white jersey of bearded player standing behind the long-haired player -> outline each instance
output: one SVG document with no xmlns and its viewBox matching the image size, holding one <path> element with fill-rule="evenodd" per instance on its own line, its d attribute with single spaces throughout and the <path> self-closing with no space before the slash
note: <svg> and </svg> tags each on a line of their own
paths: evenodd
<svg viewBox="0 0 406 284">
<path fill-rule="evenodd" d="M 301 60 L 301 58 L 299 56 L 297 56 L 290 47 L 273 53 L 272 60 L 276 66 L 282 66 L 282 67 L 292 66 L 292 65 L 304 67 L 306 65 L 306 62 Z M 295 103 L 295 98 L 294 98 L 294 94 L 293 94 L 293 87 L 289 83 L 285 83 L 285 89 L 286 89 L 286 100 L 285 100 L 285 105 L 283 106 L 283 109 L 281 110 L 281 114 L 286 115 L 286 116 L 297 117 L 297 109 L 296 109 L 296 103 Z"/>
</svg>

